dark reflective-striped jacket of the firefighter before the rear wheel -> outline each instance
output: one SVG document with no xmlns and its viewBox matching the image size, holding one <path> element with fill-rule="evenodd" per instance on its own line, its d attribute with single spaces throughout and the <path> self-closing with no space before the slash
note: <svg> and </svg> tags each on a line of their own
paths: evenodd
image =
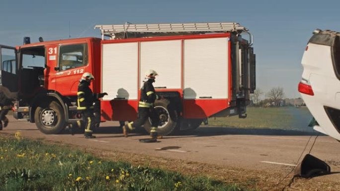
<svg viewBox="0 0 340 191">
<path fill-rule="evenodd" d="M 154 81 L 154 79 L 149 79 L 144 82 L 143 87 L 141 88 L 141 98 L 138 107 L 149 108 L 153 106 L 157 97 L 155 88 L 152 85 Z"/>
</svg>

